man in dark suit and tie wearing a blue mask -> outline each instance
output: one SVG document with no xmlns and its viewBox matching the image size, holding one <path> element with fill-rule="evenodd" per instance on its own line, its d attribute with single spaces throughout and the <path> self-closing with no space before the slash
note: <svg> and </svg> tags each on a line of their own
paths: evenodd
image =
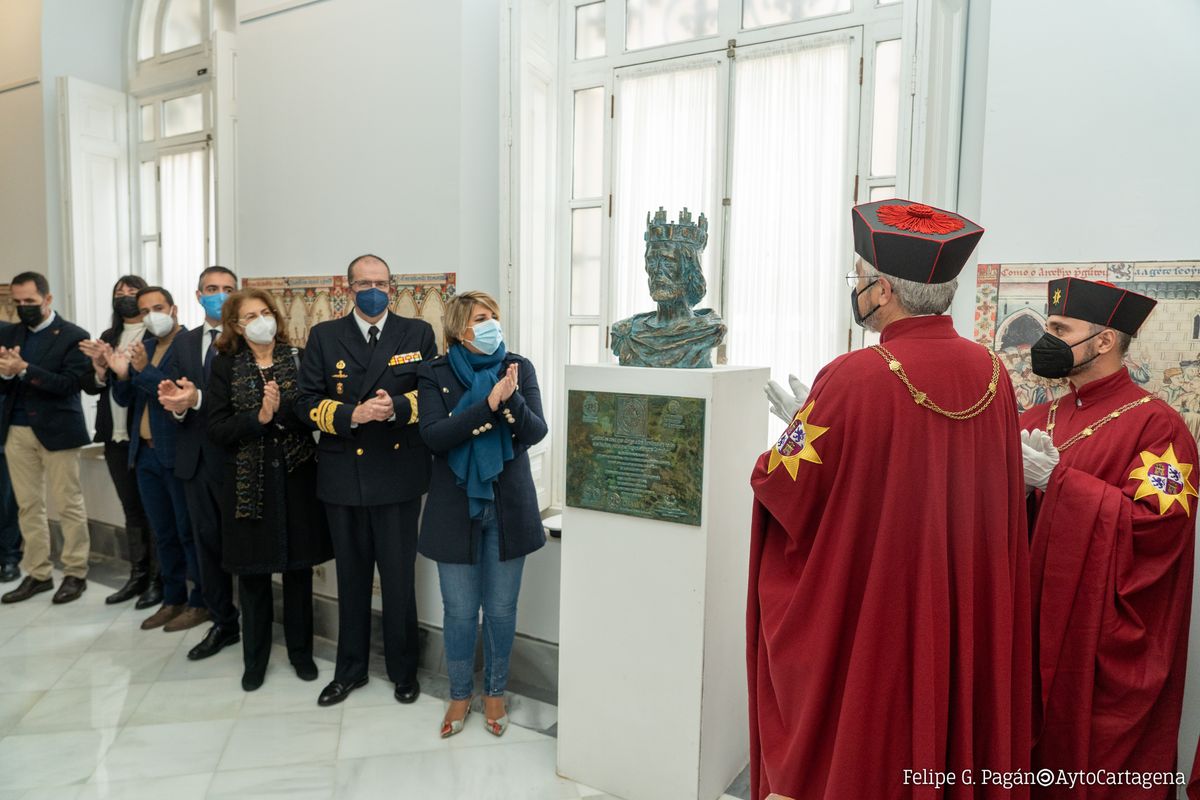
<svg viewBox="0 0 1200 800">
<path fill-rule="evenodd" d="M 184 482 L 187 512 L 192 521 L 200 587 L 212 627 L 192 648 L 192 661 L 216 655 L 240 639 L 238 607 L 233 604 L 233 578 L 221 567 L 221 481 L 224 451 L 209 439 L 209 408 L 204 392 L 209 384 L 212 347 L 221 335 L 221 308 L 238 290 L 238 276 L 223 266 L 200 272 L 196 299 L 204 307 L 204 324 L 179 335 L 172 380 L 158 389 L 158 401 L 179 422 L 175 440 L 175 477 Z"/>
</svg>

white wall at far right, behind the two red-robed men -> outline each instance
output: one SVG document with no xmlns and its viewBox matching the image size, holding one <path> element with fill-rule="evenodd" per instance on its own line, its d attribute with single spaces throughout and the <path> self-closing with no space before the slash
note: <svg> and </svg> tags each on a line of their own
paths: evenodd
<svg viewBox="0 0 1200 800">
<path fill-rule="evenodd" d="M 988 229 L 979 260 L 1200 258 L 1200 4 L 972 0 L 970 24 L 960 209 Z M 961 283 L 970 336 L 974 276 Z M 1183 771 L 1200 735 L 1200 591 L 1188 674 Z"/>
</svg>

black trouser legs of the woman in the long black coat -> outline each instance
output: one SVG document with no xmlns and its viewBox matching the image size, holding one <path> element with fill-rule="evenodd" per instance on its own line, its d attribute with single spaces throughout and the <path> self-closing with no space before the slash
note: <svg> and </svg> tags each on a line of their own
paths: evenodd
<svg viewBox="0 0 1200 800">
<path fill-rule="evenodd" d="M 271 624 L 275 599 L 270 575 L 238 576 L 238 600 L 241 602 L 241 651 L 248 674 L 266 673 L 271 657 Z M 312 661 L 312 567 L 283 573 L 283 640 L 288 661 Z"/>
</svg>

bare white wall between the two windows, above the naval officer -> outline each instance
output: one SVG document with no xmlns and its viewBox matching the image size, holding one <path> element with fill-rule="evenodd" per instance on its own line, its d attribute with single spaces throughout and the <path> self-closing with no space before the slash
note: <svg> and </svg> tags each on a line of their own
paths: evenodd
<svg viewBox="0 0 1200 800">
<path fill-rule="evenodd" d="M 331 0 L 238 31 L 238 271 L 499 287 L 499 11 Z"/>
</svg>

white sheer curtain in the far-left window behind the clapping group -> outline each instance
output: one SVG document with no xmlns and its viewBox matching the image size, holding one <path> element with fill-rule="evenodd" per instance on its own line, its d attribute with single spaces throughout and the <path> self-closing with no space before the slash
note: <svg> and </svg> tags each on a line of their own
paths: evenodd
<svg viewBox="0 0 1200 800">
<path fill-rule="evenodd" d="M 208 150 L 162 156 L 162 270 L 160 281 L 175 297 L 179 321 L 192 327 L 204 320 L 196 302 L 196 282 L 205 264 L 204 186 Z"/>
</svg>

